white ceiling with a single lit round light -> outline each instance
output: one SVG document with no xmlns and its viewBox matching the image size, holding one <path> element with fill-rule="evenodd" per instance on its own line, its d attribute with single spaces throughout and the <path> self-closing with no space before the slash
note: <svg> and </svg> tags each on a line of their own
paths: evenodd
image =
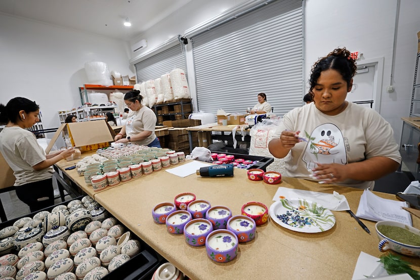
<svg viewBox="0 0 420 280">
<path fill-rule="evenodd" d="M 131 41 L 190 1 L 0 0 L 0 13 Z"/>
</svg>

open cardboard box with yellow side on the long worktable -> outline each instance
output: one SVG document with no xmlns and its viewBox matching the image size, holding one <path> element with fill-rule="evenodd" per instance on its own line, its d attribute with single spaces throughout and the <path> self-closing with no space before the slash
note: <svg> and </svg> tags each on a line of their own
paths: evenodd
<svg viewBox="0 0 420 280">
<path fill-rule="evenodd" d="M 62 124 L 51 139 L 50 144 L 45 150 L 46 153 L 51 151 L 54 143 L 62 136 L 63 131 L 68 134 L 71 145 L 73 147 L 79 147 L 81 152 L 106 148 L 110 145 L 109 142 L 114 141 L 115 136 L 114 131 L 105 119 Z"/>
</svg>

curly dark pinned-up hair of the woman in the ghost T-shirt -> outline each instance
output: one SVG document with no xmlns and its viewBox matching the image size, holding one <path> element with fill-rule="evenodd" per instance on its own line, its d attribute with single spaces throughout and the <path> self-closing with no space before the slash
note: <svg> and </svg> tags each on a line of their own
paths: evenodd
<svg viewBox="0 0 420 280">
<path fill-rule="evenodd" d="M 313 89 L 318 81 L 322 71 L 334 69 L 338 71 L 347 86 L 350 85 L 351 79 L 356 74 L 356 61 L 351 57 L 351 53 L 346 48 L 338 48 L 330 52 L 327 56 L 321 57 L 312 65 L 311 77 L 309 78 L 309 93 L 314 96 Z"/>
</svg>

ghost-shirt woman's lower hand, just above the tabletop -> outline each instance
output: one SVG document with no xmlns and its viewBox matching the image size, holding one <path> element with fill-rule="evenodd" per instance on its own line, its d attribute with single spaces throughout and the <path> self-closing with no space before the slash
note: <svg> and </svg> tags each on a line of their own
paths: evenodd
<svg viewBox="0 0 420 280">
<path fill-rule="evenodd" d="M 317 164 L 311 170 L 313 174 L 310 176 L 314 179 L 321 180 L 321 184 L 331 184 L 347 179 L 346 166 L 341 164 Z"/>
</svg>

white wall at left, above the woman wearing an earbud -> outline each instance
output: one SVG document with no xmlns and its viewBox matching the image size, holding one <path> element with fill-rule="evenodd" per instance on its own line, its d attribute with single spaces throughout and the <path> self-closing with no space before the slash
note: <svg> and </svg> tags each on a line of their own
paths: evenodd
<svg viewBox="0 0 420 280">
<path fill-rule="evenodd" d="M 78 87 L 88 83 L 85 62 L 103 61 L 110 71 L 134 75 L 128 42 L 4 14 L 0 61 L 0 103 L 16 96 L 35 100 L 44 128 L 59 126 L 59 110 L 81 105 Z"/>
</svg>

